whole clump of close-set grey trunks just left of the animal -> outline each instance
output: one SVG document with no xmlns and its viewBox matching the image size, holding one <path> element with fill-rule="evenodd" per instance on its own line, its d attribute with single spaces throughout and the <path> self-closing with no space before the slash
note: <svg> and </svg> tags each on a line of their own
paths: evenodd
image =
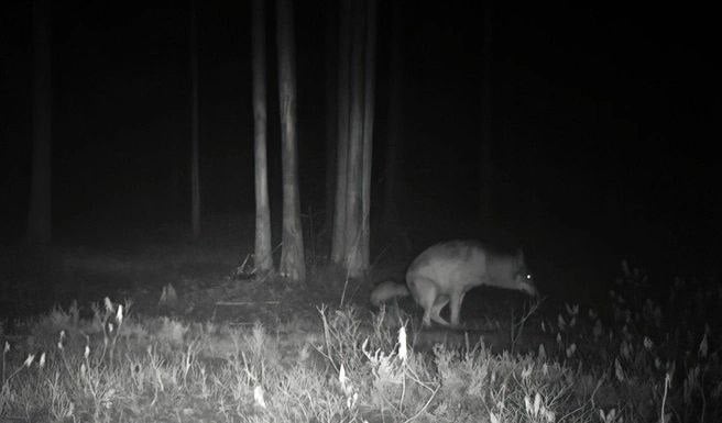
<svg viewBox="0 0 722 423">
<path fill-rule="evenodd" d="M 339 163 L 331 258 L 343 263 L 350 277 L 369 268 L 375 7 L 375 1 L 343 1 L 340 13 Z"/>
</svg>

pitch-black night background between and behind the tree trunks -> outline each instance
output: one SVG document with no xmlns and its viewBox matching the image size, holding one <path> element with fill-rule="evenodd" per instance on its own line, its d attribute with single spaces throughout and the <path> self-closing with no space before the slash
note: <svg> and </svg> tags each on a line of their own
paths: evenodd
<svg viewBox="0 0 722 423">
<path fill-rule="evenodd" d="M 198 3 L 204 208 L 251 211 L 250 7 L 245 1 Z M 391 24 L 390 7 L 381 3 L 379 160 L 386 134 Z M 405 5 L 402 175 L 412 225 L 413 215 L 434 220 L 453 210 L 472 216 L 475 210 L 479 3 Z M 31 8 L 29 1 L 3 4 L 0 192 L 8 200 L 2 233 L 13 237 L 24 224 L 28 196 Z M 328 10 L 324 2 L 296 1 L 304 209 L 322 205 Z M 499 207 L 510 222 L 523 229 L 570 227 L 591 237 L 611 237 L 614 227 L 615 236 L 622 232 L 642 240 L 639 245 L 664 238 L 665 245 L 701 247 L 712 255 L 722 229 L 713 153 L 719 136 L 710 124 L 719 110 L 712 23 L 710 11 L 679 4 L 496 4 L 494 158 Z M 78 220 L 186 219 L 187 26 L 183 1 L 55 2 L 58 226 Z M 275 65 L 273 43 L 271 37 L 270 66 Z M 270 154 L 277 192 L 274 78 L 272 69 Z"/>
</svg>

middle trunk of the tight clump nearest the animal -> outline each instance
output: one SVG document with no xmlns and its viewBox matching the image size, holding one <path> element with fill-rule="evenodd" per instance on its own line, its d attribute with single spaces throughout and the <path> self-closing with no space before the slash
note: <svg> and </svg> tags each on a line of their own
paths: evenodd
<svg viewBox="0 0 722 423">
<path fill-rule="evenodd" d="M 349 121 L 349 152 L 346 203 L 346 269 L 351 277 L 362 275 L 361 220 L 363 219 L 363 75 L 365 31 L 363 4 L 353 3 L 351 42 L 351 115 Z"/>
</svg>

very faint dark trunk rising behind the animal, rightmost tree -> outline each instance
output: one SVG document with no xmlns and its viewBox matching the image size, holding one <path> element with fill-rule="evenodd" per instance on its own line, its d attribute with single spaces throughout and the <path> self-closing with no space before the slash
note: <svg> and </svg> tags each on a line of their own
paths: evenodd
<svg viewBox="0 0 722 423">
<path fill-rule="evenodd" d="M 482 46 L 483 81 L 481 92 L 481 146 L 480 146 L 480 198 L 479 211 L 482 220 L 493 215 L 492 187 L 494 168 L 492 160 L 493 138 L 491 130 L 491 62 L 492 62 L 492 5 L 484 3 L 484 42 Z"/>
</svg>

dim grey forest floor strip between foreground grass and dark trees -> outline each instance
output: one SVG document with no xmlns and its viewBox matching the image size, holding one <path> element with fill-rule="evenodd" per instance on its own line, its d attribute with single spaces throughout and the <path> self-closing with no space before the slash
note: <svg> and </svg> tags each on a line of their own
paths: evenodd
<svg viewBox="0 0 722 423">
<path fill-rule="evenodd" d="M 72 303 L 77 304 L 81 316 L 90 316 L 91 305 L 108 297 L 113 302 L 128 301 L 133 313 L 144 316 L 167 315 L 239 327 L 251 327 L 255 322 L 266 326 L 316 322 L 315 330 L 319 330 L 316 318 L 321 304 L 352 304 L 375 311 L 368 301 L 373 286 L 389 279 L 403 282 L 405 267 L 413 258 L 398 258 L 400 254 L 393 253 L 394 257 L 379 260 L 367 278 L 349 280 L 342 271 L 311 256 L 308 280 L 292 283 L 274 275 L 249 275 L 253 240 L 236 235 L 238 229 L 216 229 L 215 235 L 197 242 L 145 234 L 144 238 L 113 243 L 59 244 L 41 252 L 1 247 L 0 319 L 7 320 L 6 327 L 11 330 L 17 319 L 22 321 L 53 307 L 67 309 Z M 173 294 L 162 299 L 168 289 Z M 430 347 L 438 338 L 459 343 L 471 334 L 472 338 L 484 336 L 500 350 L 508 348 L 512 319 L 519 318 L 528 305 L 525 301 L 521 293 L 475 289 L 464 300 L 463 331 L 430 329 L 417 342 Z M 411 298 L 393 301 L 390 307 L 415 318 L 422 314 Z M 523 342 L 527 337 L 529 342 Z M 534 349 L 540 338 L 535 326 L 524 338 L 515 339 L 515 347 Z"/>
</svg>

